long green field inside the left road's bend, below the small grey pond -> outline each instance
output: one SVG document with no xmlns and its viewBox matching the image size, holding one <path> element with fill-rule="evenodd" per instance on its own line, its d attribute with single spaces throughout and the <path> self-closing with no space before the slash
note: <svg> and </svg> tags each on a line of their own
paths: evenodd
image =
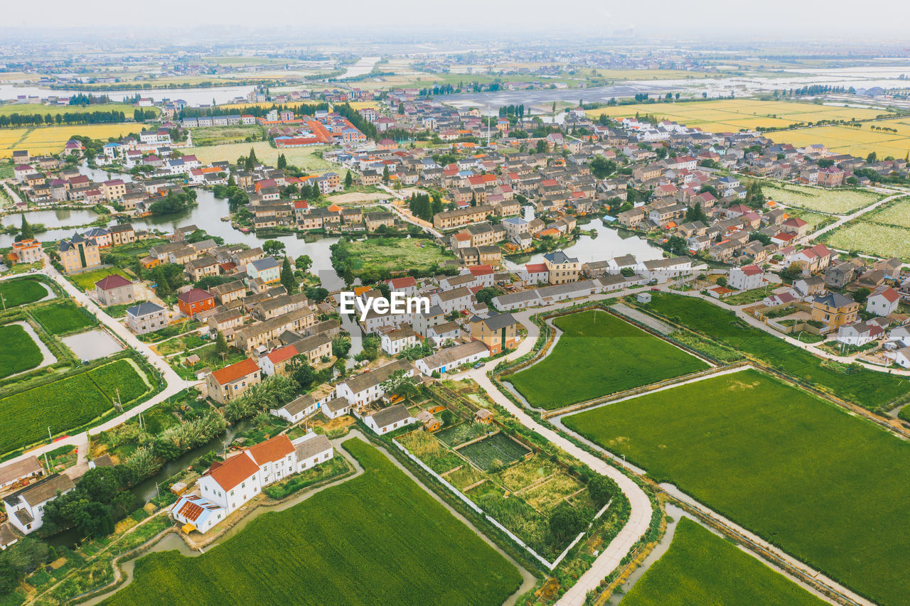
<svg viewBox="0 0 910 606">
<path fill-rule="evenodd" d="M 114 386 L 120 388 L 121 400 L 126 404 L 124 392 L 136 393 L 139 384 L 144 393 L 145 383 L 136 369 L 125 360 L 117 360 L 0 399 L 0 418 L 5 419 L 0 423 L 0 453 L 47 438 L 48 426 L 57 434 L 104 414 L 112 408 L 105 392 L 109 390 L 113 397 Z"/>
</svg>

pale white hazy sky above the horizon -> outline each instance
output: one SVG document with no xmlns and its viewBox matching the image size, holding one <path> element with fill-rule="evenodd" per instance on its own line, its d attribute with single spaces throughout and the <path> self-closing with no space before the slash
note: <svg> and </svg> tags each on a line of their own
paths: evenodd
<svg viewBox="0 0 910 606">
<path fill-rule="evenodd" d="M 299 29 L 319 37 L 343 28 L 389 28 L 430 31 L 477 29 L 504 32 L 546 30 L 609 32 L 633 26 L 642 34 L 680 38 L 742 35 L 805 35 L 910 40 L 910 3 L 885 0 L 863 5 L 848 0 L 43 0 L 4 2 L 0 26 L 79 27 L 86 33 L 99 26 L 126 26 L 136 32 L 147 26 L 177 27 L 239 25 Z M 879 18 L 877 15 L 883 15 Z M 875 37 L 869 40 L 867 36 Z M 884 40 L 883 40 L 884 41 Z M 833 44 L 835 42 L 833 41 Z"/>
</svg>

